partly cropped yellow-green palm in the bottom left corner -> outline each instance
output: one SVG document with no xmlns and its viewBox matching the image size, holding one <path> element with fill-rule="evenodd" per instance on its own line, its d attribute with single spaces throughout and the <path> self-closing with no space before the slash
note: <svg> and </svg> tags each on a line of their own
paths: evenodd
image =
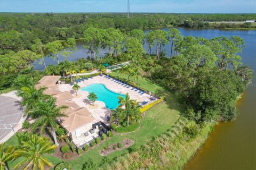
<svg viewBox="0 0 256 170">
<path fill-rule="evenodd" d="M 5 143 L 0 144 L 0 170 L 8 170 L 7 162 L 13 160 L 16 156 L 13 146 L 6 146 Z"/>
</svg>

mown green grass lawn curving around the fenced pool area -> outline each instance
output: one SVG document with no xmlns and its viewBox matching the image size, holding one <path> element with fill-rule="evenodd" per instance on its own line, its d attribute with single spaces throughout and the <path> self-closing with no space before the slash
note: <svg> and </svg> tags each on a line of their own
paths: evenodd
<svg viewBox="0 0 256 170">
<path fill-rule="evenodd" d="M 125 75 L 122 75 L 120 73 L 113 74 L 118 75 L 119 77 L 127 78 L 127 76 L 125 77 Z M 147 90 L 164 96 L 166 102 L 149 109 L 149 111 L 146 112 L 146 117 L 143 118 L 143 120 L 141 121 L 141 128 L 139 128 L 138 130 L 130 133 L 118 133 L 117 135 L 114 135 L 114 137 L 111 137 L 99 146 L 95 146 L 90 151 L 87 151 L 84 155 L 73 160 L 68 160 L 68 162 L 72 164 L 72 167 L 74 169 L 81 169 L 82 164 L 89 159 L 91 159 L 99 166 L 103 158 L 99 154 L 101 148 L 112 145 L 114 143 L 118 143 L 126 138 L 134 141 L 134 145 L 132 147 L 140 147 L 142 145 L 145 145 L 154 136 L 160 135 L 170 129 L 171 126 L 174 125 L 175 122 L 179 119 L 182 108 L 178 103 L 177 97 L 174 94 L 158 86 L 157 84 L 151 83 L 147 79 L 141 77 L 138 80 L 138 84 Z M 12 143 L 12 140 L 15 140 L 15 137 L 11 138 L 8 142 Z M 129 148 L 123 149 L 121 151 L 112 152 L 108 155 L 108 157 L 109 159 L 113 159 L 127 152 L 129 152 Z M 61 159 L 50 154 L 46 155 L 46 158 L 50 160 L 54 165 L 61 162 Z"/>
</svg>

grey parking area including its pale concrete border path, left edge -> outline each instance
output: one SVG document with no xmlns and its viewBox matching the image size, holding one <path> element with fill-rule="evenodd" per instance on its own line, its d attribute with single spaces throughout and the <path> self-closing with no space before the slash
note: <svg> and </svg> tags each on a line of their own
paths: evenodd
<svg viewBox="0 0 256 170">
<path fill-rule="evenodd" d="M 11 138 L 26 120 L 26 116 L 22 116 L 21 98 L 15 92 L 0 95 L 0 143 Z"/>
</svg>

